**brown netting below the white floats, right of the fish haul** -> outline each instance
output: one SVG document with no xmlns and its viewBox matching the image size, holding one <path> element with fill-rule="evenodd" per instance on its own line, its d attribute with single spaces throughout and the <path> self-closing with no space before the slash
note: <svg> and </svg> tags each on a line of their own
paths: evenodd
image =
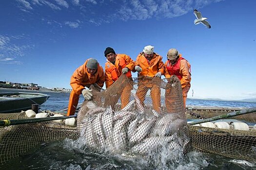
<svg viewBox="0 0 256 170">
<path fill-rule="evenodd" d="M 256 130 L 217 129 L 189 126 L 192 148 L 235 159 L 256 162 Z"/>
</svg>

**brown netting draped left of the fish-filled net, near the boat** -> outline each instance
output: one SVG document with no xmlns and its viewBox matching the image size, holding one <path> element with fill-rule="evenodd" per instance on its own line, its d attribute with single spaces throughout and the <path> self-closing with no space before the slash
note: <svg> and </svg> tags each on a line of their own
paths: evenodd
<svg viewBox="0 0 256 170">
<path fill-rule="evenodd" d="M 29 118 L 26 117 L 25 112 L 0 114 L 0 120 L 4 119 Z M 44 121 L 0 127 L 0 165 L 26 153 L 42 142 L 78 137 L 76 127 L 66 126 L 64 122 Z"/>
</svg>

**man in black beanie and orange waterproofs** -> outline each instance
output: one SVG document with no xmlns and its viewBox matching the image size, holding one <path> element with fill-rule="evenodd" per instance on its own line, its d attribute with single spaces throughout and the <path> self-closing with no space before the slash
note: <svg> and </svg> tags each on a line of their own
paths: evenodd
<svg viewBox="0 0 256 170">
<path fill-rule="evenodd" d="M 126 54 L 116 54 L 111 47 L 106 48 L 104 55 L 107 58 L 107 62 L 105 63 L 106 88 L 109 88 L 117 81 L 121 74 L 126 74 L 128 78 L 132 78 L 131 70 L 134 69 L 135 63 L 130 56 Z M 121 108 L 129 103 L 130 96 L 131 87 L 124 87 L 121 92 Z M 118 99 L 116 99 L 115 102 L 117 102 L 117 100 Z"/>
</svg>

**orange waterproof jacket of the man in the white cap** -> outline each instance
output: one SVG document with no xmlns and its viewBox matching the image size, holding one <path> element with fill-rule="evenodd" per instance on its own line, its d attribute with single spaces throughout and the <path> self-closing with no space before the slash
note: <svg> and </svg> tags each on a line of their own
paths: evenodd
<svg viewBox="0 0 256 170">
<path fill-rule="evenodd" d="M 144 56 L 144 52 L 139 53 L 135 65 L 142 68 L 142 71 L 139 73 L 139 76 L 154 77 L 159 71 L 161 71 L 162 75 L 164 74 L 165 67 L 162 61 L 162 56 L 155 52 L 149 63 L 146 57 Z"/>
</svg>

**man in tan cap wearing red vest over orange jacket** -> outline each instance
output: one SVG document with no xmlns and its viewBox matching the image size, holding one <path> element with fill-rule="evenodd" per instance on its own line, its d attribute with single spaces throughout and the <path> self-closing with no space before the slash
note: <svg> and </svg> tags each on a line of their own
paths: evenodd
<svg viewBox="0 0 256 170">
<path fill-rule="evenodd" d="M 189 62 L 176 49 L 170 49 L 167 52 L 167 61 L 165 63 L 164 76 L 170 78 L 172 75 L 176 75 L 180 80 L 183 103 L 186 108 L 187 94 L 191 86 L 191 67 Z"/>
</svg>

